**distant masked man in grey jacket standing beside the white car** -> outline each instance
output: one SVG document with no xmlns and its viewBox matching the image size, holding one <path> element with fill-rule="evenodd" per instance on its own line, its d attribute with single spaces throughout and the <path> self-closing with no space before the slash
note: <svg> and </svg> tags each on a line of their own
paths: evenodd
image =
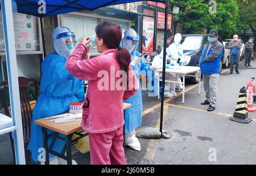
<svg viewBox="0 0 256 176">
<path fill-rule="evenodd" d="M 230 73 L 233 74 L 234 62 L 236 62 L 236 72 L 239 74 L 238 65 L 240 61 L 240 49 L 242 48 L 241 40 L 238 40 L 238 35 L 233 36 L 233 40 L 229 42 L 228 49 L 230 49 Z"/>
</svg>

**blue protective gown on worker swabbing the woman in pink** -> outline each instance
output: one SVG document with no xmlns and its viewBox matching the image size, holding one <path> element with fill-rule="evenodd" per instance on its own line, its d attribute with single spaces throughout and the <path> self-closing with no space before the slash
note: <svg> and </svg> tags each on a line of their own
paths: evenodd
<svg viewBox="0 0 256 176">
<path fill-rule="evenodd" d="M 82 81 L 73 77 L 65 69 L 65 58 L 53 52 L 43 61 L 41 94 L 33 110 L 31 137 L 27 149 L 31 150 L 32 160 L 38 161 L 43 148 L 42 128 L 34 123 L 35 120 L 61 114 L 69 110 L 69 103 L 84 100 Z M 48 134 L 52 131 L 48 130 Z M 48 140 L 48 145 L 51 139 Z M 53 150 L 61 152 L 64 141 L 57 139 Z M 50 154 L 49 157 L 53 155 Z"/>
</svg>

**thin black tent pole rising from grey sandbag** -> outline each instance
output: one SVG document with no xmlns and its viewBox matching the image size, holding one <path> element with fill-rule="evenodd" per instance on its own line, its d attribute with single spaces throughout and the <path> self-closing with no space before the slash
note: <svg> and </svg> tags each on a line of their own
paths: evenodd
<svg viewBox="0 0 256 176">
<path fill-rule="evenodd" d="M 164 47 L 163 47 L 163 76 L 162 76 L 162 95 L 161 95 L 161 112 L 160 112 L 160 132 L 161 137 L 163 135 L 163 107 L 164 107 L 164 85 L 166 83 L 166 41 L 167 41 L 167 18 L 168 18 L 168 3 L 169 0 L 166 0 L 166 10 L 164 17 Z"/>
</svg>

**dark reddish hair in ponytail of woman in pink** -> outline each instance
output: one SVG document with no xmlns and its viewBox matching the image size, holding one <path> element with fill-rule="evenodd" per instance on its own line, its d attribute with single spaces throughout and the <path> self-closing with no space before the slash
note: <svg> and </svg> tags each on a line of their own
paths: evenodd
<svg viewBox="0 0 256 176">
<path fill-rule="evenodd" d="M 106 47 L 109 49 L 118 49 L 118 64 L 120 65 L 121 70 L 127 72 L 131 62 L 131 56 L 125 48 L 119 47 L 122 40 L 121 26 L 117 26 L 111 22 L 103 22 L 96 26 L 95 32 L 98 37 L 103 39 Z"/>
</svg>

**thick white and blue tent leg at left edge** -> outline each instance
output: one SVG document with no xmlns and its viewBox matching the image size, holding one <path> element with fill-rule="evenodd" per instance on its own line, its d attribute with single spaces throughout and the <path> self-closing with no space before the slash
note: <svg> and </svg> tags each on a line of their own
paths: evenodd
<svg viewBox="0 0 256 176">
<path fill-rule="evenodd" d="M 15 52 L 13 10 L 10 0 L 1 0 L 3 33 L 5 36 L 6 67 L 9 85 L 11 118 L 13 126 L 14 149 L 16 164 L 24 165 L 24 141 L 22 128 L 22 115 L 20 110 L 20 96 L 18 85 L 18 68 Z"/>
</svg>

